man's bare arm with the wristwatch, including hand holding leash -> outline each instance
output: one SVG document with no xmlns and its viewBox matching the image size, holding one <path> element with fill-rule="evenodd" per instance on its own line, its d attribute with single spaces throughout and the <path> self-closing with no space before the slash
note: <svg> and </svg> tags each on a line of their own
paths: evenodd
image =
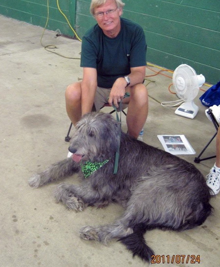
<svg viewBox="0 0 220 267">
<path fill-rule="evenodd" d="M 131 73 L 128 75 L 128 77 L 131 80 L 129 87 L 142 83 L 145 77 L 145 66 L 131 67 Z M 109 97 L 110 106 L 113 102 L 118 108 L 118 100 L 123 99 L 126 86 L 127 82 L 124 77 L 120 77 L 114 82 Z"/>
</svg>

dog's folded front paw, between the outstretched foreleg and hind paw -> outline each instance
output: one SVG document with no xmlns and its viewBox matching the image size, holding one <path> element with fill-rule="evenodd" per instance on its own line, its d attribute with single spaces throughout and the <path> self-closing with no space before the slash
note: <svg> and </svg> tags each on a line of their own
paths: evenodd
<svg viewBox="0 0 220 267">
<path fill-rule="evenodd" d="M 85 208 L 84 202 L 74 196 L 73 193 L 68 189 L 69 185 L 61 183 L 57 186 L 54 191 L 54 197 L 57 202 L 62 201 L 68 209 L 75 211 L 83 211 Z"/>
</svg>

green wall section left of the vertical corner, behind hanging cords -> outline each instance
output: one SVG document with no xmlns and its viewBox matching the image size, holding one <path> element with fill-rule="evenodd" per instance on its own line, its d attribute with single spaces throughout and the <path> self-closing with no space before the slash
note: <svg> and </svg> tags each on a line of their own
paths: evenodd
<svg viewBox="0 0 220 267">
<path fill-rule="evenodd" d="M 70 24 L 75 24 L 76 0 L 59 0 L 59 6 Z M 47 18 L 47 0 L 0 0 L 0 14 L 44 27 Z M 58 10 L 57 0 L 49 0 L 49 21 L 47 29 L 58 30 L 74 36 L 66 19 Z"/>
</svg>

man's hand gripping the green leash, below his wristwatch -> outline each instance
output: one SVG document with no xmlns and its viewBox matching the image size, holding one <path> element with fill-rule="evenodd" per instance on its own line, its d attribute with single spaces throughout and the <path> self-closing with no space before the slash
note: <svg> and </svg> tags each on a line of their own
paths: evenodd
<svg viewBox="0 0 220 267">
<path fill-rule="evenodd" d="M 110 106 L 112 106 L 113 102 L 115 107 L 118 108 L 118 103 L 124 98 L 126 86 L 127 82 L 124 77 L 120 77 L 114 82 L 109 96 Z"/>
</svg>

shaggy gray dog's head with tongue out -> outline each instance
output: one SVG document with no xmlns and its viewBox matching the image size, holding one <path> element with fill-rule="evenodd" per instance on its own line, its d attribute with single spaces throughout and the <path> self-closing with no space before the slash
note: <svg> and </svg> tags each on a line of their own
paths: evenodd
<svg viewBox="0 0 220 267">
<path fill-rule="evenodd" d="M 120 123 L 109 113 L 85 114 L 76 124 L 69 151 L 73 160 L 101 161 L 112 157 L 120 142 Z"/>
</svg>

